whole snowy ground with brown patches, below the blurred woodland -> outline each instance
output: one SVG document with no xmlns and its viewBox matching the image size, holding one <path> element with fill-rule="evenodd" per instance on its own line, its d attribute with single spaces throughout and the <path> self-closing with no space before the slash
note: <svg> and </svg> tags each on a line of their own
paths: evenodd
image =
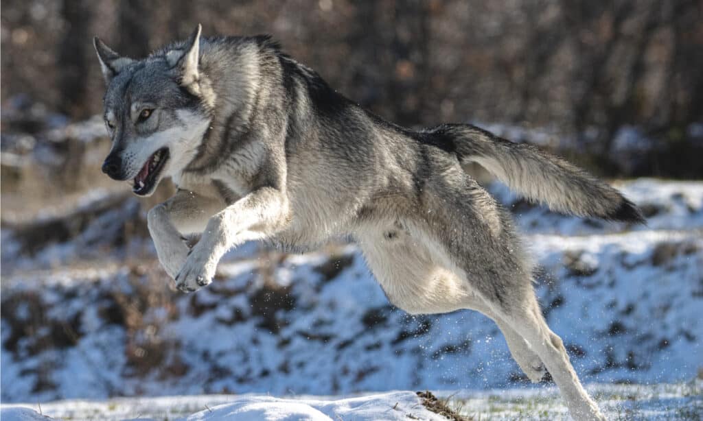
<svg viewBox="0 0 703 421">
<path fill-rule="evenodd" d="M 646 227 L 568 218 L 503 187 L 492 192 L 538 262 L 548 323 L 610 417 L 699 419 L 701 386 L 692 380 L 703 367 L 703 182 L 618 187 L 643 208 Z M 53 417 L 161 420 L 212 414 L 205 404 L 248 404 L 250 393 L 341 399 L 430 389 L 475 419 L 565 414 L 554 389 L 524 383 L 494 323 L 475 312 L 407 316 L 389 305 L 354 246 L 285 255 L 250 244 L 228 256 L 211 286 L 182 295 L 167 288 L 148 239 L 118 241 L 143 219 L 136 199 L 92 192 L 80 206 L 111 201 L 70 241 L 32 253 L 17 230 L 3 228 L 4 404 L 38 410 L 41 402 Z M 416 404 L 413 392 L 398 396 L 403 407 Z M 60 399 L 96 401 L 51 403 Z M 365 405 L 383 419 L 388 399 L 374 399 Z M 283 414 L 321 410 L 298 399 L 282 405 Z M 94 408 L 103 412 L 91 415 Z"/>
</svg>

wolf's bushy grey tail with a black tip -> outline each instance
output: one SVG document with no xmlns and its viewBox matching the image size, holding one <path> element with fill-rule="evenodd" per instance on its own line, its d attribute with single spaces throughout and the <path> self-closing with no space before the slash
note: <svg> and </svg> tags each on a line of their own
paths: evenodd
<svg viewBox="0 0 703 421">
<path fill-rule="evenodd" d="M 620 192 L 576 166 L 537 147 L 514 143 L 470 125 L 432 129 L 453 142 L 461 162 L 476 162 L 510 189 L 562 213 L 605 220 L 645 222 Z"/>
</svg>

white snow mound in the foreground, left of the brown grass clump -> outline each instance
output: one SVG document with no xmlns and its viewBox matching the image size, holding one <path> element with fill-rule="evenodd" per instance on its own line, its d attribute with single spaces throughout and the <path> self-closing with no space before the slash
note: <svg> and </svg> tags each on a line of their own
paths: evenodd
<svg viewBox="0 0 703 421">
<path fill-rule="evenodd" d="M 209 402 L 209 404 L 208 404 Z M 223 403 L 226 402 L 226 403 Z M 36 408 L 36 406 L 34 406 Z M 195 412 L 195 408 L 202 410 Z M 63 401 L 42 406 L 52 420 L 100 417 L 101 420 L 179 419 L 183 421 L 444 421 L 427 410 L 413 392 L 388 392 L 347 399 L 274 398 L 272 396 L 169 396 L 157 399 L 115 399 L 108 402 Z M 183 413 L 193 412 L 190 415 Z M 154 417 L 154 418 L 149 418 Z M 3 421 L 46 420 L 28 407 L 4 406 Z"/>
</svg>

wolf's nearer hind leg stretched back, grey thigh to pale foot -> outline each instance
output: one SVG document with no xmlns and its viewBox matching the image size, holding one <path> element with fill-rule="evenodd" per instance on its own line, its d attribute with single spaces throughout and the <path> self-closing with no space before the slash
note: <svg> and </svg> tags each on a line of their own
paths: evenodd
<svg viewBox="0 0 703 421">
<path fill-rule="evenodd" d="M 449 178 L 448 175 L 453 175 Z M 559 387 L 572 417 L 604 420 L 581 386 L 562 340 L 547 326 L 531 285 L 531 265 L 505 213 L 468 178 L 446 173 L 424 190 L 427 227 L 455 271 L 517 335 L 529 343 Z"/>
</svg>

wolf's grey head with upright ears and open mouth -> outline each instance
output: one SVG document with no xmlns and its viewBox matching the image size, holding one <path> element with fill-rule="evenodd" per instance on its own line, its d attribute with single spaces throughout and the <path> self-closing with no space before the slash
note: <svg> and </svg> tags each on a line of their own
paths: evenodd
<svg viewBox="0 0 703 421">
<path fill-rule="evenodd" d="M 212 90 L 198 70 L 200 25 L 187 41 L 143 60 L 121 57 L 97 37 L 94 45 L 112 138 L 103 172 L 133 180 L 132 191 L 149 196 L 195 157 L 211 120 Z"/>
</svg>

